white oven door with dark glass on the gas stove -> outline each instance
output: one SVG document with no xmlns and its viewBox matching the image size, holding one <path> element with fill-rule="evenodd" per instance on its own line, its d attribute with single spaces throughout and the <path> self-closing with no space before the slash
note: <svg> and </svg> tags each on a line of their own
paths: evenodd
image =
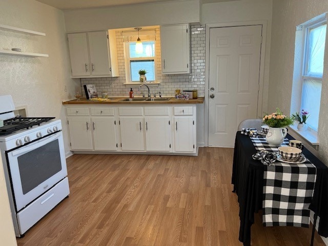
<svg viewBox="0 0 328 246">
<path fill-rule="evenodd" d="M 67 176 L 61 131 L 7 152 L 7 159 L 17 211 Z"/>
</svg>

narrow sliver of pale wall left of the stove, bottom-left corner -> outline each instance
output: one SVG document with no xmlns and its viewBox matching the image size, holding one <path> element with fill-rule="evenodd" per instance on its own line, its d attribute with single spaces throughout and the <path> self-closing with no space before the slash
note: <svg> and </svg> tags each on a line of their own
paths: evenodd
<svg viewBox="0 0 328 246">
<path fill-rule="evenodd" d="M 2 158 L 0 158 L 0 238 L 1 244 L 6 246 L 17 245 L 14 227 L 11 219 L 6 180 Z"/>
</svg>

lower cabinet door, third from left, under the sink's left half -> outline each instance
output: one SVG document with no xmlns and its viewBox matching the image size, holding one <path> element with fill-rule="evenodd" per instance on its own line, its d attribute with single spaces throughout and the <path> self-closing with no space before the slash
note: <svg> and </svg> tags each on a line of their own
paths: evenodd
<svg viewBox="0 0 328 246">
<path fill-rule="evenodd" d="M 119 121 L 122 150 L 145 151 L 144 119 L 138 116 L 121 116 Z"/>
</svg>

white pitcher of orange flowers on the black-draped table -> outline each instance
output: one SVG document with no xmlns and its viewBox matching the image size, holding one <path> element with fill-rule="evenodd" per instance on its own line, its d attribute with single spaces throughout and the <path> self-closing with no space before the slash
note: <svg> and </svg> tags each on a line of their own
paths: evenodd
<svg viewBox="0 0 328 246">
<path fill-rule="evenodd" d="M 287 135 L 285 127 L 293 125 L 293 119 L 285 116 L 279 108 L 272 114 L 265 114 L 262 118 L 263 123 L 269 126 L 265 139 L 270 146 L 280 146 L 284 137 Z"/>
</svg>

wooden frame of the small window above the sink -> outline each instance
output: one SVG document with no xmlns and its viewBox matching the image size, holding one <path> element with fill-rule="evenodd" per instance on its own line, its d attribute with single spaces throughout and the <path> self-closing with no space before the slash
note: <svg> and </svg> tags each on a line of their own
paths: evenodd
<svg viewBox="0 0 328 246">
<path fill-rule="evenodd" d="M 140 81 L 132 81 L 131 79 L 131 60 L 154 60 L 154 80 L 147 80 L 149 83 L 154 83 L 156 81 L 157 77 L 157 64 L 156 64 L 156 58 L 157 58 L 157 48 L 156 48 L 156 38 L 147 38 L 142 39 L 141 36 L 141 42 L 142 41 L 154 41 L 154 56 L 142 56 L 142 57 L 130 57 L 130 40 L 127 40 L 124 42 L 124 61 L 125 61 L 125 71 L 126 71 L 126 84 L 140 84 Z"/>
</svg>

